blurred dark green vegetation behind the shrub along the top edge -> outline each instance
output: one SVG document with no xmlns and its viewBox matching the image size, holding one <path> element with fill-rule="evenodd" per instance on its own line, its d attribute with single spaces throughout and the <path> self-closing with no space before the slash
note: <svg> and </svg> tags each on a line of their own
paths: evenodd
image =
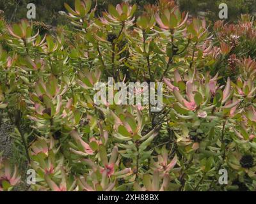
<svg viewBox="0 0 256 204">
<path fill-rule="evenodd" d="M 251 13 L 256 15 L 256 0 L 176 0 L 183 11 L 189 11 L 193 16 L 205 16 L 209 20 L 218 20 L 218 5 L 227 3 L 228 21 L 237 20 L 241 13 Z M 48 25 L 66 24 L 67 19 L 61 16 L 58 11 L 65 11 L 64 3 L 74 4 L 74 0 L 1 0 L 0 10 L 8 22 L 19 21 L 26 18 L 28 3 L 36 4 L 36 21 L 44 22 Z M 143 7 L 145 4 L 155 4 L 157 0 L 130 0 Z M 95 1 L 96 3 L 96 1 Z M 97 15 L 108 9 L 108 4 L 122 3 L 121 0 L 97 0 Z M 140 9 L 137 10 L 140 12 Z"/>
</svg>

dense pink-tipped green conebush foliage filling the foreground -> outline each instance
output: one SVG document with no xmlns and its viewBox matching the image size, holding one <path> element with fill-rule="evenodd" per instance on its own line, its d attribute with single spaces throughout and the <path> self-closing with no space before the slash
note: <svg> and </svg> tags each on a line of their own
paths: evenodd
<svg viewBox="0 0 256 204">
<path fill-rule="evenodd" d="M 40 191 L 256 189 L 255 21 L 189 18 L 174 1 L 65 4 L 72 29 L 0 20 L 0 108 Z M 164 82 L 163 110 L 96 105 L 97 82 Z M 140 90 L 139 90 L 140 91 Z M 219 170 L 228 171 L 220 185 Z M 22 182 L 0 159 L 0 191 Z"/>
</svg>

